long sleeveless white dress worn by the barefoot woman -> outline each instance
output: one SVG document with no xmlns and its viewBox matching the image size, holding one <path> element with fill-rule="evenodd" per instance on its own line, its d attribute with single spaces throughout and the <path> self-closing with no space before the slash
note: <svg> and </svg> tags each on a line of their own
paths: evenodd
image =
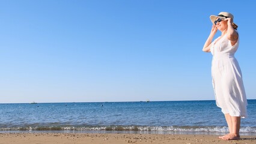
<svg viewBox="0 0 256 144">
<path fill-rule="evenodd" d="M 234 53 L 239 47 L 239 40 L 231 46 L 227 35 L 216 38 L 210 48 L 212 59 L 212 80 L 216 104 L 224 114 L 246 118 L 246 94 L 242 73 Z"/>
</svg>

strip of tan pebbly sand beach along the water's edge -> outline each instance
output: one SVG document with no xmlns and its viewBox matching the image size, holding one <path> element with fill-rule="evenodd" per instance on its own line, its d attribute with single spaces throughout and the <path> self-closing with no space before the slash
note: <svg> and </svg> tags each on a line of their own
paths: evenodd
<svg viewBox="0 0 256 144">
<path fill-rule="evenodd" d="M 68 133 L 0 133 L 0 144 L 7 143 L 256 143 L 256 136 L 242 136 L 240 140 L 220 140 L 215 135 L 194 134 L 68 134 Z"/>
</svg>

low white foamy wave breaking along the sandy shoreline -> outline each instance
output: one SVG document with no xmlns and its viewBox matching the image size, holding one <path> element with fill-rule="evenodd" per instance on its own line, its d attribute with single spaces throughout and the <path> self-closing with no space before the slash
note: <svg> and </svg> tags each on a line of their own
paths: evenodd
<svg viewBox="0 0 256 144">
<path fill-rule="evenodd" d="M 64 133 L 154 133 L 154 134 L 221 134 L 228 133 L 228 127 L 198 127 L 198 126 L 40 126 L 0 128 L 1 131 L 58 131 Z M 256 135 L 256 127 L 241 127 L 242 135 Z"/>
</svg>

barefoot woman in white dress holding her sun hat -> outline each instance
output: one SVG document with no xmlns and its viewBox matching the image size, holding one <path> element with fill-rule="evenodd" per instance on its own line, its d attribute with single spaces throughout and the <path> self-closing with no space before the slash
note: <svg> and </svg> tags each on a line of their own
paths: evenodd
<svg viewBox="0 0 256 144">
<path fill-rule="evenodd" d="M 240 119 L 247 116 L 242 73 L 234 58 L 239 47 L 239 34 L 233 19 L 233 15 L 227 12 L 210 16 L 212 31 L 203 47 L 204 52 L 211 52 L 213 55 L 212 79 L 216 104 L 221 107 L 230 131 L 229 134 L 219 137 L 224 140 L 240 139 Z M 218 29 L 221 36 L 212 41 Z"/>
</svg>

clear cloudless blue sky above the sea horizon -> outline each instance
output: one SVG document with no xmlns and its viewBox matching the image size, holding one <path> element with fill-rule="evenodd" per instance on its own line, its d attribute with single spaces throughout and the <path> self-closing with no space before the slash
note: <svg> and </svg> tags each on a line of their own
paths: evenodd
<svg viewBox="0 0 256 144">
<path fill-rule="evenodd" d="M 209 16 L 233 13 L 256 99 L 255 1 L 0 1 L 0 103 L 215 100 Z M 219 36 L 218 32 L 218 36 Z"/>
</svg>

